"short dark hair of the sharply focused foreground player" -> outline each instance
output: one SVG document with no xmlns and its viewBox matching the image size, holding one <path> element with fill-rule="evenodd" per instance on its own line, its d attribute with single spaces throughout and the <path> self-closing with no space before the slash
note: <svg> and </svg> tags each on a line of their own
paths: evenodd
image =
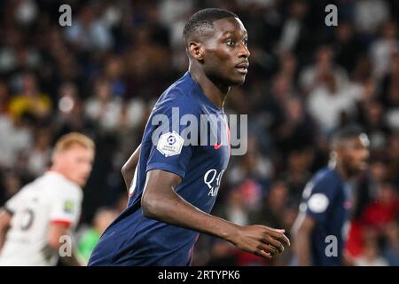
<svg viewBox="0 0 399 284">
<path fill-rule="evenodd" d="M 230 11 L 219 8 L 207 8 L 200 10 L 192 15 L 187 21 L 183 30 L 184 43 L 188 43 L 193 33 L 204 33 L 207 29 L 214 29 L 214 21 L 224 18 L 238 18 L 238 16 Z"/>
</svg>

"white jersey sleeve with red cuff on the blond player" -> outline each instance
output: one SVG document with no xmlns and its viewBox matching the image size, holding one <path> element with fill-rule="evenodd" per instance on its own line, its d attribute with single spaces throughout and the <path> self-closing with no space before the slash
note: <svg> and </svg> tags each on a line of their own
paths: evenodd
<svg viewBox="0 0 399 284">
<path fill-rule="evenodd" d="M 74 188 L 64 188 L 51 201 L 52 224 L 76 225 L 81 215 L 82 195 Z"/>
</svg>

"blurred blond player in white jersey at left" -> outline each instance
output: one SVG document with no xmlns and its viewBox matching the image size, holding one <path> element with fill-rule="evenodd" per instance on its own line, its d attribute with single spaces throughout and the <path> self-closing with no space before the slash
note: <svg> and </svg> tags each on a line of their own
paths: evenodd
<svg viewBox="0 0 399 284">
<path fill-rule="evenodd" d="M 93 141 L 72 132 L 59 138 L 52 166 L 25 185 L 0 211 L 0 265 L 55 265 L 59 247 L 79 221 L 82 186 L 90 176 Z M 72 243 L 67 244 L 72 246 Z M 72 248 L 71 248 L 72 251 Z M 79 264 L 74 255 L 64 257 Z"/>
</svg>

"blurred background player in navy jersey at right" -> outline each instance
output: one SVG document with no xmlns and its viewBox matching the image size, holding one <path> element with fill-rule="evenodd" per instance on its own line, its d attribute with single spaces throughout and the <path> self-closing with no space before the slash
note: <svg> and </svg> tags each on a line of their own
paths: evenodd
<svg viewBox="0 0 399 284">
<path fill-rule="evenodd" d="M 333 136 L 331 165 L 319 170 L 305 186 L 293 225 L 299 265 L 342 264 L 353 203 L 350 182 L 367 167 L 368 145 L 367 136 L 353 126 Z"/>
</svg>

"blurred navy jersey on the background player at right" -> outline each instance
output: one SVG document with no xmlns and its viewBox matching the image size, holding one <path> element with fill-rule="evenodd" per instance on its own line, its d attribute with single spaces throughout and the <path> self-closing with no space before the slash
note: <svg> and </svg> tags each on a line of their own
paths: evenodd
<svg viewBox="0 0 399 284">
<path fill-rule="evenodd" d="M 313 265 L 340 265 L 348 233 L 350 185 L 336 170 L 319 170 L 303 191 L 300 212 L 316 220 L 311 234 Z"/>
</svg>

